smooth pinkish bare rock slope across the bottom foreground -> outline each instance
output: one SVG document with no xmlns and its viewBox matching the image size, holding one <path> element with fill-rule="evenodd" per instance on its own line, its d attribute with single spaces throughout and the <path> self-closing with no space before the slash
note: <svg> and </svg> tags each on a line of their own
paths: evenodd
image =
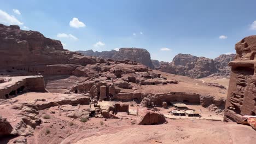
<svg viewBox="0 0 256 144">
<path fill-rule="evenodd" d="M 255 133 L 252 128 L 235 123 L 182 119 L 162 125 L 85 130 L 62 143 L 254 143 Z"/>
</svg>

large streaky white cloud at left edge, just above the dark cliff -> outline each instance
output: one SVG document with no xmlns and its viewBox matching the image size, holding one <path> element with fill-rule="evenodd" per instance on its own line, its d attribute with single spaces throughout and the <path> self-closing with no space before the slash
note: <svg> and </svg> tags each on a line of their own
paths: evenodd
<svg viewBox="0 0 256 144">
<path fill-rule="evenodd" d="M 0 9 L 0 23 L 4 23 L 6 25 L 23 25 L 16 17 L 7 14 L 5 11 Z"/>
</svg>

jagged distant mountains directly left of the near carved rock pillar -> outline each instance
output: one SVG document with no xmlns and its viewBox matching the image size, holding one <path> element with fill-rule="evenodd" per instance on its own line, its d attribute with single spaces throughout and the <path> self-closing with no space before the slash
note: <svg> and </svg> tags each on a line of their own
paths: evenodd
<svg viewBox="0 0 256 144">
<path fill-rule="evenodd" d="M 166 73 L 201 78 L 209 75 L 228 76 L 230 68 L 228 62 L 232 61 L 231 55 L 221 55 L 216 59 L 196 57 L 188 54 L 178 54 L 171 63 L 162 63 L 160 71 Z"/>
</svg>

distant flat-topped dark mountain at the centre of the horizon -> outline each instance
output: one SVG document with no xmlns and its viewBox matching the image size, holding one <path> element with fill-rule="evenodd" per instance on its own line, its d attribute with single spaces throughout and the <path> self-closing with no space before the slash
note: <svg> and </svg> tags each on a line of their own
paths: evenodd
<svg viewBox="0 0 256 144">
<path fill-rule="evenodd" d="M 92 50 L 88 51 L 77 51 L 82 53 L 85 56 L 95 56 L 102 58 L 110 58 L 115 60 L 121 59 L 129 59 L 131 61 L 136 61 L 138 63 L 144 64 L 149 68 L 154 68 L 154 65 L 150 59 L 150 53 L 146 49 L 138 49 L 138 48 L 121 48 L 119 51 L 102 51 L 102 52 L 94 52 Z"/>
</svg>

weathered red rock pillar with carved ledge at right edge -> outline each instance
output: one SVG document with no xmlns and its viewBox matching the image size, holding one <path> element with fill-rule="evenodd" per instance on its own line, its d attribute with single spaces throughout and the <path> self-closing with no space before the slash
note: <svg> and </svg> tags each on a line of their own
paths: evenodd
<svg viewBox="0 0 256 144">
<path fill-rule="evenodd" d="M 229 63 L 232 69 L 224 120 L 241 122 L 242 116 L 256 113 L 256 35 L 242 39 L 235 49 L 235 60 Z"/>
</svg>

